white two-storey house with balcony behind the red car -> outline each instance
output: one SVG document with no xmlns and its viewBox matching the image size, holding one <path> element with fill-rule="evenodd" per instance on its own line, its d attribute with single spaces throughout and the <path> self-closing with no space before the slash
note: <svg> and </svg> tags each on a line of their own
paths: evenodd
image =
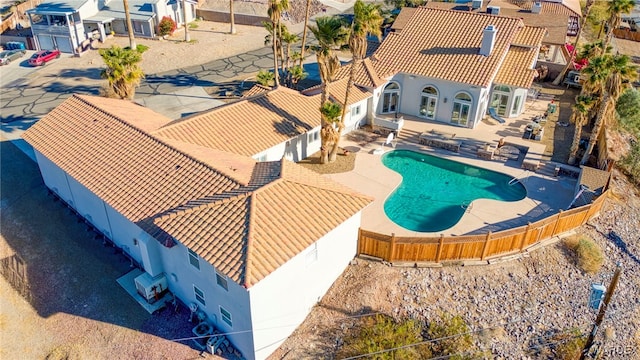
<svg viewBox="0 0 640 360">
<path fill-rule="evenodd" d="M 185 2 L 187 22 L 195 18 L 196 2 Z M 46 1 L 28 10 L 31 32 L 38 50 L 59 49 L 78 54 L 82 44 L 91 39 L 104 41 L 112 32 L 128 35 L 124 3 L 120 0 Z M 131 26 L 136 37 L 153 38 L 160 20 L 169 16 L 183 24 L 182 2 L 176 0 L 130 0 Z"/>
</svg>

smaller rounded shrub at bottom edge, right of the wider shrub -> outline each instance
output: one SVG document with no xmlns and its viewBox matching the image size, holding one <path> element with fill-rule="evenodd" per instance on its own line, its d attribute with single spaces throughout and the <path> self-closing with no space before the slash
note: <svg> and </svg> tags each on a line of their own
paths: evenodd
<svg viewBox="0 0 640 360">
<path fill-rule="evenodd" d="M 429 357 L 447 356 L 452 360 L 482 359 L 483 354 L 475 348 L 469 326 L 460 315 L 443 313 L 429 323 L 426 331 Z M 439 340 L 436 340 L 439 339 Z"/>
</svg>

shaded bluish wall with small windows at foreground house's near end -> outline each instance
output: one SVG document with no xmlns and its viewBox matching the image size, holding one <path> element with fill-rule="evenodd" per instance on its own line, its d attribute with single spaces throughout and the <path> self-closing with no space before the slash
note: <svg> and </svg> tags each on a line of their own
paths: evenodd
<svg viewBox="0 0 640 360">
<path fill-rule="evenodd" d="M 196 269 L 189 263 L 187 248 L 180 243 L 172 248 L 161 245 L 160 256 L 171 292 L 187 305 L 198 304 L 198 309 L 204 310 L 209 321 L 222 332 L 239 332 L 227 338 L 247 359 L 252 359 L 254 346 L 247 290 L 230 279 L 227 279 L 229 291 L 222 288 L 216 282 L 213 266 L 199 258 L 200 270 Z M 204 293 L 206 305 L 196 300 L 193 285 Z M 233 326 L 222 321 L 220 306 L 231 313 Z"/>
</svg>

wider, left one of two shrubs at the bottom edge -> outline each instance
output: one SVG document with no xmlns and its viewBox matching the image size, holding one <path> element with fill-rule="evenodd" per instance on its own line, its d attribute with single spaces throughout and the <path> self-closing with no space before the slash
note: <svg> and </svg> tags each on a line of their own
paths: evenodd
<svg viewBox="0 0 640 360">
<path fill-rule="evenodd" d="M 422 342 L 422 326 L 416 320 L 396 322 L 393 318 L 378 314 L 363 318 L 359 326 L 348 333 L 337 358 L 370 354 L 387 349 Z M 424 359 L 423 346 L 408 346 L 375 355 L 375 359 Z"/>
</svg>

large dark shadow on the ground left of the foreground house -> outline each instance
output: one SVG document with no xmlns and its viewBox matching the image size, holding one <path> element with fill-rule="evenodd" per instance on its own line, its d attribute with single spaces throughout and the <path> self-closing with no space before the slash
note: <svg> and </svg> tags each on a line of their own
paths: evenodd
<svg viewBox="0 0 640 360">
<path fill-rule="evenodd" d="M 164 339 L 193 336 L 186 307 L 169 305 L 155 318 L 116 283 L 131 271 L 129 259 L 50 195 L 33 161 L 9 141 L 0 142 L 0 159 L 7 250 L 0 275 L 39 316 L 66 313 Z"/>
</svg>

